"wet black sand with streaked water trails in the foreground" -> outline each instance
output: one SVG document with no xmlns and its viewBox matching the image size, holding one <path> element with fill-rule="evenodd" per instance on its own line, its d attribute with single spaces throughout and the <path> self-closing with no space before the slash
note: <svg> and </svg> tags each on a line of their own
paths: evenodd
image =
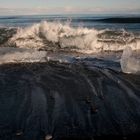
<svg viewBox="0 0 140 140">
<path fill-rule="evenodd" d="M 130 139 L 140 133 L 140 76 L 82 62 L 0 66 L 0 139 Z"/>
</svg>

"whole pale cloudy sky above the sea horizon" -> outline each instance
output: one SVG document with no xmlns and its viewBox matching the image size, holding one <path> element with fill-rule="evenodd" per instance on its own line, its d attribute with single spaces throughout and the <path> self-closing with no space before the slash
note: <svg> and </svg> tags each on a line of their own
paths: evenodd
<svg viewBox="0 0 140 140">
<path fill-rule="evenodd" d="M 0 15 L 140 14 L 140 0 L 0 0 Z"/>
</svg>

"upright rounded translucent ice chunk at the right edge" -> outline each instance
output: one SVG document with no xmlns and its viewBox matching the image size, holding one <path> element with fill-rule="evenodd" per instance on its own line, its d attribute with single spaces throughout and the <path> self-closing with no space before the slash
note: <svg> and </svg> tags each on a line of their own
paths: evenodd
<svg viewBox="0 0 140 140">
<path fill-rule="evenodd" d="M 124 49 L 120 63 L 124 73 L 140 73 L 140 59 L 133 56 L 131 47 Z"/>
</svg>

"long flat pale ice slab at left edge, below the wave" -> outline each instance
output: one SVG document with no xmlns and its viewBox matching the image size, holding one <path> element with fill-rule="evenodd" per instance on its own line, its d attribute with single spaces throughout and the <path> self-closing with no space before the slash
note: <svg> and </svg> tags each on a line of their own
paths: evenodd
<svg viewBox="0 0 140 140">
<path fill-rule="evenodd" d="M 44 62 L 46 61 L 46 57 L 47 52 L 45 51 L 0 48 L 0 64 L 10 62 Z"/>
</svg>

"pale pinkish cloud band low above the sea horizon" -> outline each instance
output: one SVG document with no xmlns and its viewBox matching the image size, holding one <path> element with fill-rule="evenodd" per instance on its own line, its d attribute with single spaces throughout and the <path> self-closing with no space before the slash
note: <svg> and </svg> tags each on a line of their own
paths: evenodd
<svg viewBox="0 0 140 140">
<path fill-rule="evenodd" d="M 36 15 L 36 14 L 112 14 L 112 13 L 130 13 L 140 14 L 140 8 L 102 8 L 102 7 L 54 7 L 54 8 L 0 8 L 0 15 Z"/>
</svg>

